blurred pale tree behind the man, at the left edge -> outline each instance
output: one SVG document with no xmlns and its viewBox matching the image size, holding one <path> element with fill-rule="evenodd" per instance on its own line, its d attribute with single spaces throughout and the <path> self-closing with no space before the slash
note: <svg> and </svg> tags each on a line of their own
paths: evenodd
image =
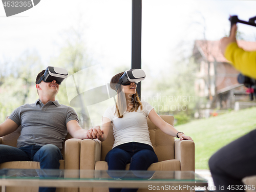
<svg viewBox="0 0 256 192">
<path fill-rule="evenodd" d="M 34 86 L 42 63 L 36 51 L 26 51 L 14 61 L 5 59 L 0 66 L 0 122 L 3 122 L 18 106 L 38 98 Z"/>
</svg>

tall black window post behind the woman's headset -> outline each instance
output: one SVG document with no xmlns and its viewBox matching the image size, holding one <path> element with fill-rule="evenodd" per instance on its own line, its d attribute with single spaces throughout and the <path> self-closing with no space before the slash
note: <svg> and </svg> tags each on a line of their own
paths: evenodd
<svg viewBox="0 0 256 192">
<path fill-rule="evenodd" d="M 132 0 L 132 69 L 141 69 L 141 14 L 142 0 Z M 137 85 L 141 95 L 141 82 Z"/>
</svg>

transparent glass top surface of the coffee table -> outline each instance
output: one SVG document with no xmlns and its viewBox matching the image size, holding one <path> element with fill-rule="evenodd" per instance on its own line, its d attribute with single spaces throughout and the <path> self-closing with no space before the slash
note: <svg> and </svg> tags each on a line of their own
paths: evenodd
<svg viewBox="0 0 256 192">
<path fill-rule="evenodd" d="M 207 183 L 195 172 L 148 170 L 0 169 L 1 179 L 150 180 Z"/>
</svg>

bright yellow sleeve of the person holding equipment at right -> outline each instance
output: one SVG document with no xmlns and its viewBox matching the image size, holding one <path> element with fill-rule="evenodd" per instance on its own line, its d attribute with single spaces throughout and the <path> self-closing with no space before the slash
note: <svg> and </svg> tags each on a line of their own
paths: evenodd
<svg viewBox="0 0 256 192">
<path fill-rule="evenodd" d="M 232 42 L 225 50 L 225 57 L 243 75 L 256 79 L 256 51 L 245 51 Z"/>
</svg>

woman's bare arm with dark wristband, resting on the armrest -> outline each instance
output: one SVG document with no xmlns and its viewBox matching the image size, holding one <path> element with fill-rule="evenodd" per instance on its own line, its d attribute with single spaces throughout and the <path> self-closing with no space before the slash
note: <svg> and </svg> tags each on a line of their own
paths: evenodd
<svg viewBox="0 0 256 192">
<path fill-rule="evenodd" d="M 177 133 L 179 132 L 176 130 L 172 125 L 165 122 L 156 112 L 155 110 L 151 110 L 150 114 L 148 114 L 148 118 L 157 126 L 160 130 L 162 130 L 165 134 L 177 137 Z M 183 133 L 179 133 L 178 136 L 180 137 L 180 140 L 191 140 L 193 139 L 191 137 L 188 137 L 184 135 Z"/>
</svg>

